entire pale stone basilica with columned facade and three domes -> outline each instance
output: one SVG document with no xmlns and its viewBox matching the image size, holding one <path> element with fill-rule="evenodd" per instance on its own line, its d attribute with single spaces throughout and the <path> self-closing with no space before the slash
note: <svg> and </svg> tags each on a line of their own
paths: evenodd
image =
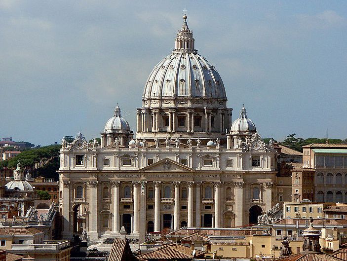
<svg viewBox="0 0 347 261">
<path fill-rule="evenodd" d="M 221 76 L 198 54 L 183 18 L 175 49 L 145 83 L 136 133 L 117 105 L 101 145 L 81 133 L 63 139 L 65 238 L 253 224 L 276 203 L 272 141 L 262 141 L 244 107 L 231 120 Z"/>
</svg>

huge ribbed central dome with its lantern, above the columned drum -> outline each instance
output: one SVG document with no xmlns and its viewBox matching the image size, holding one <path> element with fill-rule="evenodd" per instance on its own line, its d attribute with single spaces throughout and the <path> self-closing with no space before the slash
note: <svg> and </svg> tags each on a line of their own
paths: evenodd
<svg viewBox="0 0 347 261">
<path fill-rule="evenodd" d="M 202 102 L 201 98 L 205 101 Z M 177 33 L 176 48 L 149 75 L 142 99 L 144 107 L 183 103 L 194 104 L 195 107 L 207 104 L 226 106 L 227 96 L 222 78 L 216 68 L 194 49 L 193 32 L 188 28 L 186 19 Z"/>
</svg>

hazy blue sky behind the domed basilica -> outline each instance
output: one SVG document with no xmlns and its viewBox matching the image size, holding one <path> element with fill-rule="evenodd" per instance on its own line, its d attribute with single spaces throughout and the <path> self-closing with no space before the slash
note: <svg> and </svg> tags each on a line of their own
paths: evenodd
<svg viewBox="0 0 347 261">
<path fill-rule="evenodd" d="M 347 2 L 318 0 L 0 0 L 0 137 L 99 137 L 117 103 L 135 132 L 185 5 L 233 120 L 245 104 L 262 137 L 347 138 Z"/>
</svg>

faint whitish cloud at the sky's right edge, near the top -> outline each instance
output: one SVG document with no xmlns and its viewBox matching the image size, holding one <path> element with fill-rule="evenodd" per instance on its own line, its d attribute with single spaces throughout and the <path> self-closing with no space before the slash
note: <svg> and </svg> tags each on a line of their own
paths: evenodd
<svg viewBox="0 0 347 261">
<path fill-rule="evenodd" d="M 301 26 L 307 29 L 328 29 L 347 25 L 347 19 L 332 10 L 314 15 L 300 14 L 297 18 Z"/>
</svg>

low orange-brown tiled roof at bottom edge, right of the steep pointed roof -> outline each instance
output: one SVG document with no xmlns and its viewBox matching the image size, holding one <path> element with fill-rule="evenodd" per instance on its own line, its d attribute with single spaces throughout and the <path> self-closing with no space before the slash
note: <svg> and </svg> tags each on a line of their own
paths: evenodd
<svg viewBox="0 0 347 261">
<path fill-rule="evenodd" d="M 154 249 L 151 252 L 137 256 L 138 259 L 193 259 L 192 249 L 179 244 L 171 244 Z M 195 257 L 203 256 L 205 252 L 195 249 Z"/>
</svg>

